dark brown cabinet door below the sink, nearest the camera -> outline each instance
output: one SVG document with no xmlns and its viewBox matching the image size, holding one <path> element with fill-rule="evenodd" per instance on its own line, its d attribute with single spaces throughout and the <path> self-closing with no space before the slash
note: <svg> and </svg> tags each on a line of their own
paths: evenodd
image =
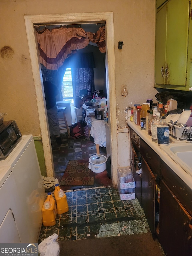
<svg viewBox="0 0 192 256">
<path fill-rule="evenodd" d="M 161 246 L 167 256 L 191 256 L 191 216 L 162 180 L 160 187 L 159 241 Z"/>
</svg>

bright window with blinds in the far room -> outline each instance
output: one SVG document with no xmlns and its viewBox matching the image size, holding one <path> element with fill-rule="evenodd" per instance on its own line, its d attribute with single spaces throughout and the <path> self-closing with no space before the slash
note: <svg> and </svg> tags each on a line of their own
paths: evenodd
<svg viewBox="0 0 192 256">
<path fill-rule="evenodd" d="M 63 77 L 62 94 L 63 94 L 64 101 L 70 101 L 71 103 L 73 103 L 73 84 L 72 84 L 70 68 L 66 68 L 66 71 Z"/>
</svg>

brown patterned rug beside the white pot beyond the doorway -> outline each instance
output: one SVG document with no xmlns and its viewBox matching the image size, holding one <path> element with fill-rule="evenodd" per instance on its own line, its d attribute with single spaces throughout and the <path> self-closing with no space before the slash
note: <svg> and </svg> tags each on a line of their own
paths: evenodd
<svg viewBox="0 0 192 256">
<path fill-rule="evenodd" d="M 61 186 L 91 186 L 95 173 L 88 168 L 88 160 L 70 160 L 60 181 Z"/>
</svg>

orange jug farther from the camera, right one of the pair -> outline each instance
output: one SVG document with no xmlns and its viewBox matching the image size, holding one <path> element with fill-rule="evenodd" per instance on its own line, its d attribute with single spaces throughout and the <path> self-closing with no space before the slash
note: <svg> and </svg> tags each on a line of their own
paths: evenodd
<svg viewBox="0 0 192 256">
<path fill-rule="evenodd" d="M 53 194 L 57 204 L 57 214 L 68 212 L 69 207 L 67 203 L 67 197 L 63 190 L 59 187 L 59 184 L 55 184 L 55 190 Z"/>
</svg>

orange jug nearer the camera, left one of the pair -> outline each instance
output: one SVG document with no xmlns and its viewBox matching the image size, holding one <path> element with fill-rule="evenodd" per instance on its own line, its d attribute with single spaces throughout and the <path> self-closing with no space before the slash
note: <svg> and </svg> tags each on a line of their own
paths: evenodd
<svg viewBox="0 0 192 256">
<path fill-rule="evenodd" d="M 42 208 L 42 218 L 44 227 L 54 226 L 56 224 L 57 209 L 51 192 L 47 193 L 47 198 Z"/>
</svg>

